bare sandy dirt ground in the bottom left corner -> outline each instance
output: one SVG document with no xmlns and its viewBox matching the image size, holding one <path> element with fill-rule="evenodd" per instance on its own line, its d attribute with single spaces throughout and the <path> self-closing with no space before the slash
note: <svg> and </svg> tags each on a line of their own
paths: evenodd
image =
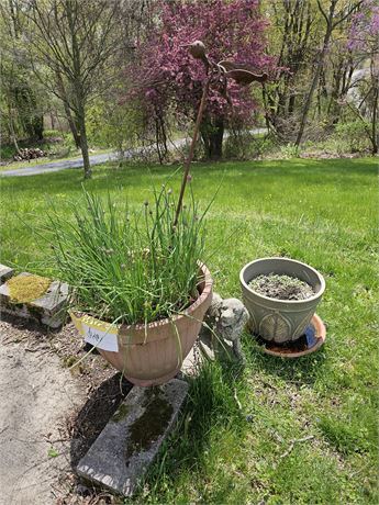
<svg viewBox="0 0 379 505">
<path fill-rule="evenodd" d="M 101 433 L 131 384 L 94 354 L 73 324 L 48 333 L 0 321 L 0 489 L 7 505 L 115 503 L 87 487 L 73 467 Z"/>
</svg>

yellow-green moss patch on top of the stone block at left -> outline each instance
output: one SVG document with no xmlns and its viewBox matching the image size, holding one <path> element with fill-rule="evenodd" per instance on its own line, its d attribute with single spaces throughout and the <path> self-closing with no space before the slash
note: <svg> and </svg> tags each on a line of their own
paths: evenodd
<svg viewBox="0 0 379 505">
<path fill-rule="evenodd" d="M 40 276 L 16 276 L 7 281 L 9 295 L 14 303 L 27 303 L 43 296 L 52 283 L 51 279 Z"/>
</svg>

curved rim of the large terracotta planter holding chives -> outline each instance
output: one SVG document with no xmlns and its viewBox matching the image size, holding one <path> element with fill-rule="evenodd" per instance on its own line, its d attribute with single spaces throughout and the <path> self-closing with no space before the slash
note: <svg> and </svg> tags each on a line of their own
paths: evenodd
<svg viewBox="0 0 379 505">
<path fill-rule="evenodd" d="M 165 326 L 167 324 L 175 324 L 179 319 L 183 317 L 190 317 L 191 314 L 196 311 L 196 308 L 202 304 L 205 299 L 212 293 L 212 284 L 213 280 L 211 277 L 211 272 L 209 271 L 208 267 L 205 263 L 199 262 L 199 268 L 202 272 L 202 280 L 200 284 L 203 285 L 203 289 L 201 291 L 200 296 L 191 303 L 191 305 L 186 308 L 183 312 L 180 314 L 174 315 L 172 317 L 165 317 L 164 319 L 157 319 L 152 323 L 148 323 L 147 325 L 144 324 L 134 324 L 134 325 L 124 325 L 124 324 L 112 324 L 108 322 L 103 322 L 101 319 L 98 319 L 93 316 L 90 316 L 89 314 L 86 313 L 75 313 L 75 311 L 71 311 L 70 314 L 74 314 L 76 318 L 82 319 L 86 316 L 89 316 L 90 319 L 96 324 L 100 325 L 109 325 L 110 327 L 113 327 L 118 332 L 118 339 L 122 339 L 122 337 L 132 337 L 127 343 L 122 341 L 122 345 L 144 345 L 146 343 L 151 341 L 156 341 L 156 340 L 164 340 L 166 338 L 165 335 L 161 335 L 160 332 L 155 332 L 155 329 L 158 329 L 160 326 Z M 145 330 L 147 338 L 142 338 L 137 332 Z M 123 339 L 122 339 L 123 340 Z"/>
</svg>

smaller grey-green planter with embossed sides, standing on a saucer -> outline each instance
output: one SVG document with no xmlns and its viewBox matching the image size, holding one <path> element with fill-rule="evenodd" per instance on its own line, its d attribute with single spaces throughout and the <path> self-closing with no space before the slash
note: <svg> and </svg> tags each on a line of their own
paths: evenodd
<svg viewBox="0 0 379 505">
<path fill-rule="evenodd" d="M 308 282 L 314 295 L 306 300 L 277 300 L 259 294 L 248 285 L 269 273 L 296 277 Z M 324 278 L 309 265 L 289 258 L 260 258 L 247 263 L 239 274 L 244 303 L 250 315 L 249 326 L 265 340 L 286 344 L 304 334 L 325 290 Z"/>
</svg>

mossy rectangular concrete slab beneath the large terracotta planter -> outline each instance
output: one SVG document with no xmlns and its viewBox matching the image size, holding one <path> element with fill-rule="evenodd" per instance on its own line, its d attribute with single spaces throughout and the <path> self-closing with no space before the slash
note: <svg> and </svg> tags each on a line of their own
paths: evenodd
<svg viewBox="0 0 379 505">
<path fill-rule="evenodd" d="M 78 475 L 132 496 L 174 427 L 187 392 L 187 382 L 178 379 L 155 388 L 133 386 L 79 461 Z"/>
</svg>

